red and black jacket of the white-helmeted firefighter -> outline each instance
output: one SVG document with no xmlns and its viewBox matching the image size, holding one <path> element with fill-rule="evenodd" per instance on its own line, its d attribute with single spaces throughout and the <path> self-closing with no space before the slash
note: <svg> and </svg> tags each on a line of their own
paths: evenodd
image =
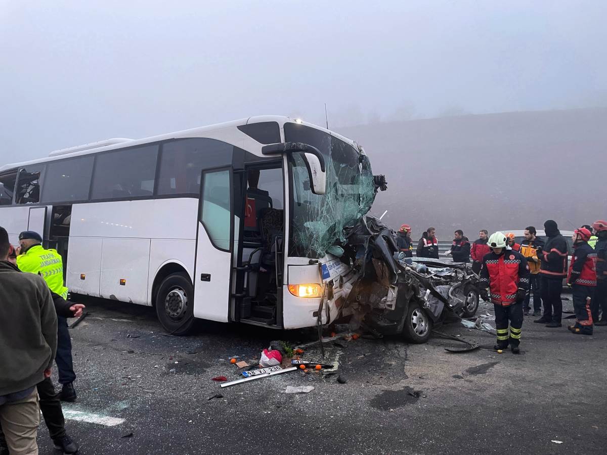
<svg viewBox="0 0 607 455">
<path fill-rule="evenodd" d="M 489 285 L 491 302 L 509 306 L 517 302 L 518 288 L 529 289 L 529 266 L 517 251 L 504 249 L 497 255 L 490 252 L 483 258 L 481 288 Z"/>
</svg>

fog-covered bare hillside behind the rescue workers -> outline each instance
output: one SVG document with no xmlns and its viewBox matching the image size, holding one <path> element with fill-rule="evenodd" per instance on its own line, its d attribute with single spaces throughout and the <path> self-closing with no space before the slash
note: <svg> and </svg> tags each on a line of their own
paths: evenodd
<svg viewBox="0 0 607 455">
<path fill-rule="evenodd" d="M 393 227 L 563 229 L 607 218 L 607 109 L 466 115 L 339 129 L 358 141 L 388 190 L 372 214 Z"/>
</svg>

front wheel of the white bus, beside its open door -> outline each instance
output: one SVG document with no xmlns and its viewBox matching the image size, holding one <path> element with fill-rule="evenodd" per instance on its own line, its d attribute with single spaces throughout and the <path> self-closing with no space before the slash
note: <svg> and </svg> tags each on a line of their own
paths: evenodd
<svg viewBox="0 0 607 455">
<path fill-rule="evenodd" d="M 186 335 L 194 327 L 194 286 L 188 274 L 178 272 L 164 278 L 156 295 L 156 315 L 173 335 Z"/>
</svg>

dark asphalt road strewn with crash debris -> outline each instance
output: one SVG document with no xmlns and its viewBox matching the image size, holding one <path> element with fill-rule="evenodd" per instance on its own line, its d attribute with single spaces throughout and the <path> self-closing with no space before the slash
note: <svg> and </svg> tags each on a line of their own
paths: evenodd
<svg viewBox="0 0 607 455">
<path fill-rule="evenodd" d="M 205 323 L 174 337 L 151 308 L 86 303 L 92 313 L 72 329 L 78 401 L 64 406 L 83 455 L 607 451 L 607 327 L 586 337 L 526 317 L 520 356 L 449 354 L 444 347 L 463 345 L 438 337 L 329 342 L 325 360 L 345 384 L 296 371 L 220 389 L 212 377 L 239 377 L 231 357 L 253 364 L 271 340 L 296 346 L 316 335 Z M 485 348 L 494 341 L 459 324 L 441 331 Z M 319 357 L 312 345 L 302 359 Z M 285 394 L 288 385 L 314 390 Z M 39 445 L 53 453 L 44 425 Z"/>
</svg>

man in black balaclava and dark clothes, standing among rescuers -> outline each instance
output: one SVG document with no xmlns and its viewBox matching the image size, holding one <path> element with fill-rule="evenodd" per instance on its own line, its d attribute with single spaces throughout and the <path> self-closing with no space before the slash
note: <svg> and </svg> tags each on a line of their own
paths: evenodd
<svg viewBox="0 0 607 455">
<path fill-rule="evenodd" d="M 563 315 L 563 278 L 567 276 L 567 241 L 558 231 L 556 221 L 547 220 L 544 223 L 546 232 L 546 246 L 535 250 L 541 261 L 541 300 L 544 305 L 544 314 L 534 322 L 546 324 L 546 327 L 561 327 Z"/>
</svg>

